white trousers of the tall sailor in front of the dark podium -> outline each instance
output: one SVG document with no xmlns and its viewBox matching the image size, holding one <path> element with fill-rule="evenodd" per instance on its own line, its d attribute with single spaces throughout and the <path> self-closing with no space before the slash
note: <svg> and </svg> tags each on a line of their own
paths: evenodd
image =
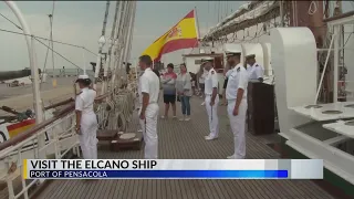
<svg viewBox="0 0 354 199">
<path fill-rule="evenodd" d="M 235 108 L 236 101 L 228 101 L 228 115 L 230 119 L 230 127 L 233 134 L 235 153 L 232 157 L 235 159 L 243 159 L 246 156 L 246 112 L 247 112 L 247 100 L 242 100 L 239 106 L 239 113 L 233 116 L 232 112 Z"/>
</svg>

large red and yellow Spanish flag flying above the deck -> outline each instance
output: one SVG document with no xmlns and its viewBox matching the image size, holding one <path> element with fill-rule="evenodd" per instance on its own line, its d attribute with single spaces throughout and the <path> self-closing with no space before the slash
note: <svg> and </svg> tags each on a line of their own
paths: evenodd
<svg viewBox="0 0 354 199">
<path fill-rule="evenodd" d="M 192 10 L 148 46 L 142 55 L 147 54 L 156 62 L 160 60 L 163 54 L 196 46 L 198 46 L 198 34 L 195 10 Z"/>
</svg>

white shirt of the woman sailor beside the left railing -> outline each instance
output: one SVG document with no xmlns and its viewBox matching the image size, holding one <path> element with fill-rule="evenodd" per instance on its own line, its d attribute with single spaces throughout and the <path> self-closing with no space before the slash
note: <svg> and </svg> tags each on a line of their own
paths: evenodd
<svg viewBox="0 0 354 199">
<path fill-rule="evenodd" d="M 82 114 L 93 114 L 93 103 L 96 98 L 96 92 L 85 87 L 76 96 L 75 109 L 81 111 Z"/>
</svg>

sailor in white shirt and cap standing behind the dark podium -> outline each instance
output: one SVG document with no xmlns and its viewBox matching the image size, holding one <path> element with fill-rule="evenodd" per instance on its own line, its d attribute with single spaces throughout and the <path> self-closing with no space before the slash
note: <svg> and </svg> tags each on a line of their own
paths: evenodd
<svg viewBox="0 0 354 199">
<path fill-rule="evenodd" d="M 256 63 L 256 54 L 249 54 L 246 56 L 247 72 L 250 81 L 263 82 L 264 69 L 260 64 Z"/>
</svg>

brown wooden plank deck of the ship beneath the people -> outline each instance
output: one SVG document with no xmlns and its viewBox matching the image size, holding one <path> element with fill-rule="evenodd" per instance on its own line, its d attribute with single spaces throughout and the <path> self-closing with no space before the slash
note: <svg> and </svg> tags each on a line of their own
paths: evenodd
<svg viewBox="0 0 354 199">
<path fill-rule="evenodd" d="M 219 107 L 219 139 L 206 142 L 208 123 L 201 101 L 191 98 L 191 121 L 159 119 L 160 159 L 225 159 L 233 153 L 226 107 Z M 163 113 L 163 105 L 160 105 Z M 177 113 L 180 113 L 179 103 Z M 136 117 L 137 118 L 137 117 Z M 137 119 L 129 125 L 137 128 Z M 278 159 L 268 144 L 277 136 L 247 135 L 247 158 Z M 98 158 L 139 159 L 143 150 L 98 151 Z M 311 180 L 53 180 L 37 197 L 39 199 L 330 199 L 333 198 Z"/>
</svg>

